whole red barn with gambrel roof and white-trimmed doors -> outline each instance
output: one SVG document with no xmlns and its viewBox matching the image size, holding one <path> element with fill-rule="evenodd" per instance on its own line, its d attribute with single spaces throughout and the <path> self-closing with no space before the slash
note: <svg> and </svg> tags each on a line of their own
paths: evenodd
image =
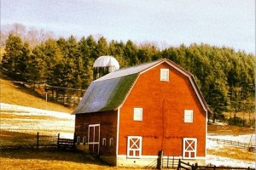
<svg viewBox="0 0 256 170">
<path fill-rule="evenodd" d="M 209 111 L 189 71 L 160 59 L 91 82 L 73 113 L 75 139 L 115 166 L 148 166 L 160 150 L 202 164 Z"/>
</svg>

